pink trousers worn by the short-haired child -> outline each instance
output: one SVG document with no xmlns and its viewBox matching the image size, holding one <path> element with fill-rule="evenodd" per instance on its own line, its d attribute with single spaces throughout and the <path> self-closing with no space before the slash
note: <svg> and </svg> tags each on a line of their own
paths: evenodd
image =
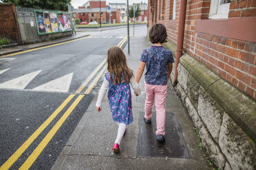
<svg viewBox="0 0 256 170">
<path fill-rule="evenodd" d="M 151 85 L 145 83 L 146 101 L 145 101 L 145 119 L 151 119 L 153 101 L 156 105 L 156 135 L 164 135 L 165 124 L 165 98 L 167 97 L 167 85 Z"/>
</svg>

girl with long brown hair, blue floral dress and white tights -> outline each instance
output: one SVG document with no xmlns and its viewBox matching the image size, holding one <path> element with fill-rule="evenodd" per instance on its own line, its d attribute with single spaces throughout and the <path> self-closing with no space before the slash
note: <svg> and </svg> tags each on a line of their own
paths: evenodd
<svg viewBox="0 0 256 170">
<path fill-rule="evenodd" d="M 141 93 L 140 87 L 135 81 L 133 71 L 127 66 L 125 53 L 119 47 L 110 47 L 107 51 L 107 71 L 103 85 L 98 94 L 96 110 L 100 108 L 105 93 L 108 90 L 109 108 L 112 118 L 118 123 L 118 134 L 112 150 L 119 152 L 119 145 L 126 126 L 134 121 L 131 107 L 131 87 L 137 94 Z"/>
</svg>

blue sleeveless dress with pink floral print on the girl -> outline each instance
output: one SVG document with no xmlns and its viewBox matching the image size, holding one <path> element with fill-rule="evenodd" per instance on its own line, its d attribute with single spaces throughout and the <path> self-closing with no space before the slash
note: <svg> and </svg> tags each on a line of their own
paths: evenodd
<svg viewBox="0 0 256 170">
<path fill-rule="evenodd" d="M 129 125 L 134 121 L 131 107 L 131 88 L 129 83 L 123 82 L 113 84 L 109 73 L 105 74 L 106 80 L 109 82 L 109 90 L 107 97 L 109 98 L 109 108 L 112 118 L 117 123 L 125 123 Z"/>
</svg>

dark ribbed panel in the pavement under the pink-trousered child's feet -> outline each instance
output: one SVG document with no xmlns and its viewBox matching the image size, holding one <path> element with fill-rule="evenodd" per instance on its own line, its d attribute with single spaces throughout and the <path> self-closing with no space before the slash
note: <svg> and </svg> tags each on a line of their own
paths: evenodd
<svg viewBox="0 0 256 170">
<path fill-rule="evenodd" d="M 165 118 L 165 141 L 156 141 L 156 112 L 152 112 L 151 124 L 143 120 L 140 112 L 138 125 L 138 157 L 189 158 L 182 131 L 173 112 L 167 112 Z"/>
</svg>

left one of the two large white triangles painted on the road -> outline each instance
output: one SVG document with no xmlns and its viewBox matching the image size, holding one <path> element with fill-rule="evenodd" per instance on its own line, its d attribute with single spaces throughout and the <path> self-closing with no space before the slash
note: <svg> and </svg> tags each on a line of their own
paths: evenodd
<svg viewBox="0 0 256 170">
<path fill-rule="evenodd" d="M 0 84 L 0 88 L 24 89 L 40 72 L 41 70 L 9 80 L 8 82 Z"/>
</svg>

